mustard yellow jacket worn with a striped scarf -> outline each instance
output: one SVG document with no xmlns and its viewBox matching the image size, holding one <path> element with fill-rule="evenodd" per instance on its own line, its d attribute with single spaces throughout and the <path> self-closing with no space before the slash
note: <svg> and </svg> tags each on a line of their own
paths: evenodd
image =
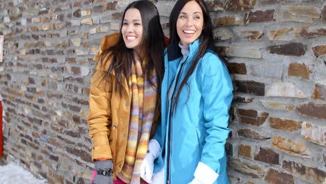
<svg viewBox="0 0 326 184">
<path fill-rule="evenodd" d="M 118 40 L 118 33 L 104 36 L 100 43 L 98 55 L 93 59 L 98 61 L 100 54 Z M 127 80 L 123 80 L 121 95 L 116 91 L 115 73 L 103 79 L 111 62 L 104 65 L 107 58 L 98 61 L 95 73 L 91 79 L 89 93 L 88 128 L 93 141 L 92 160 L 110 158 L 114 164 L 114 178 L 120 172 L 125 162 L 127 134 L 130 122 L 130 93 Z M 160 116 L 155 112 L 151 135 L 154 134 L 156 121 Z"/>
</svg>

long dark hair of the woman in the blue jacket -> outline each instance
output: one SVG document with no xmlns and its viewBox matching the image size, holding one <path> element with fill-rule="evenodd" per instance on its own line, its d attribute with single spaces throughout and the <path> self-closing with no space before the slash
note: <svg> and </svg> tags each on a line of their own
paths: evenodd
<svg viewBox="0 0 326 184">
<path fill-rule="evenodd" d="M 221 59 L 223 61 L 223 63 L 226 65 L 226 67 L 228 68 L 228 63 L 226 62 L 226 60 L 223 57 L 219 56 L 219 54 L 217 53 L 217 51 L 214 47 L 214 43 L 213 43 L 214 38 L 213 38 L 213 33 L 212 33 L 212 28 L 213 28 L 212 21 L 210 19 L 210 15 L 208 13 L 208 8 L 205 5 L 205 2 L 203 0 L 178 0 L 176 2 L 176 5 L 173 7 L 173 9 L 171 11 L 170 22 L 169 22 L 169 24 L 170 24 L 170 40 L 169 40 L 170 45 L 178 44 L 180 42 L 176 24 L 178 21 L 180 11 L 183 9 L 185 4 L 188 3 L 189 1 L 196 1 L 196 3 L 199 4 L 199 6 L 201 7 L 201 10 L 203 11 L 203 21 L 204 21 L 203 22 L 203 31 L 201 32 L 201 36 L 199 36 L 200 47 L 199 47 L 199 50 L 194 58 L 194 62 L 192 63 L 192 66 L 190 67 L 189 71 L 187 72 L 185 79 L 183 79 L 183 81 L 181 82 L 180 87 L 176 93 L 176 98 L 173 99 L 172 112 L 176 111 L 176 106 L 178 104 L 178 98 L 179 98 L 181 90 L 183 89 L 183 86 L 187 85 L 187 80 L 189 79 L 190 75 L 192 75 L 192 72 L 194 72 L 194 69 L 196 68 L 197 64 L 199 63 L 199 60 L 201 59 L 201 57 L 203 55 L 205 55 L 206 52 L 213 52 L 213 53 L 217 54 L 219 59 Z"/>
</svg>

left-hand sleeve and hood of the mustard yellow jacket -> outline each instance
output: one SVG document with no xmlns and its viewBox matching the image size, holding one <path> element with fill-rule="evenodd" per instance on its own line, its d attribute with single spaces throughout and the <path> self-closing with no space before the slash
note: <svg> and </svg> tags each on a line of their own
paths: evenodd
<svg viewBox="0 0 326 184">
<path fill-rule="evenodd" d="M 118 40 L 118 33 L 104 36 L 100 43 L 98 54 L 94 61 L 100 59 L 100 55 L 105 49 L 108 49 Z M 107 68 L 111 61 L 107 56 L 98 62 L 95 73 L 91 79 L 91 90 L 89 93 L 89 112 L 88 129 L 89 136 L 93 141 L 92 160 L 101 158 L 112 158 L 111 148 L 109 146 L 109 135 L 111 129 L 111 95 L 112 78 L 106 76 Z"/>
</svg>

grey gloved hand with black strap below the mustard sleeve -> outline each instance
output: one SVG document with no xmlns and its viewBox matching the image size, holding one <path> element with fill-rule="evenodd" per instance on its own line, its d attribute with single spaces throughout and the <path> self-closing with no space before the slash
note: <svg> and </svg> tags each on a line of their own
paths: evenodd
<svg viewBox="0 0 326 184">
<path fill-rule="evenodd" d="M 96 161 L 95 170 L 98 173 L 95 175 L 92 184 L 113 184 L 113 164 L 111 160 Z"/>
</svg>

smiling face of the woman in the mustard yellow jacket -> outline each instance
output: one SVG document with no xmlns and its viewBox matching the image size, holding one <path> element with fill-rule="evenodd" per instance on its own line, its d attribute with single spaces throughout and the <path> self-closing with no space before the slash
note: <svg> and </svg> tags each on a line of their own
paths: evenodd
<svg viewBox="0 0 326 184">
<path fill-rule="evenodd" d="M 129 49 L 135 49 L 140 54 L 141 41 L 143 40 L 143 24 L 139 10 L 130 8 L 125 12 L 121 33 L 125 46 Z"/>
</svg>

